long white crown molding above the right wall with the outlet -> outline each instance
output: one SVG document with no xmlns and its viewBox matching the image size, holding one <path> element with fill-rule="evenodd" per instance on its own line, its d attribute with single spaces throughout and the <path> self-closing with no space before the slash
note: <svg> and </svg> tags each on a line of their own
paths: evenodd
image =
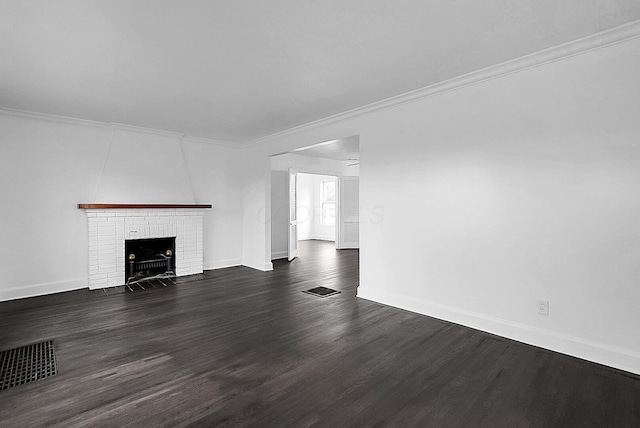
<svg viewBox="0 0 640 428">
<path fill-rule="evenodd" d="M 315 120 L 304 125 L 266 135 L 254 140 L 246 141 L 241 147 L 248 149 L 290 135 L 299 134 L 305 131 L 335 124 L 338 122 L 354 119 L 359 116 L 400 106 L 402 104 L 430 98 L 446 92 L 455 91 L 467 86 L 497 79 L 520 71 L 539 67 L 552 62 L 571 58 L 596 49 L 601 49 L 614 44 L 626 42 L 640 37 L 640 20 L 632 21 L 618 27 L 611 28 L 599 33 L 592 34 L 580 39 L 576 39 L 561 45 L 553 46 L 529 55 L 525 55 L 500 64 L 492 65 L 477 71 L 472 71 L 461 76 L 457 76 L 433 85 L 425 86 L 421 89 L 396 95 L 381 101 L 377 101 L 362 107 L 338 113 L 323 119 Z"/>
</svg>

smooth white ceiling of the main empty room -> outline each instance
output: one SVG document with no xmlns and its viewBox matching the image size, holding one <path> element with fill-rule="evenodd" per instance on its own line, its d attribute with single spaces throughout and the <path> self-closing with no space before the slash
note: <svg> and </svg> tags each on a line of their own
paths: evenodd
<svg viewBox="0 0 640 428">
<path fill-rule="evenodd" d="M 640 19 L 638 0 L 0 0 L 0 106 L 245 143 Z"/>
</svg>

